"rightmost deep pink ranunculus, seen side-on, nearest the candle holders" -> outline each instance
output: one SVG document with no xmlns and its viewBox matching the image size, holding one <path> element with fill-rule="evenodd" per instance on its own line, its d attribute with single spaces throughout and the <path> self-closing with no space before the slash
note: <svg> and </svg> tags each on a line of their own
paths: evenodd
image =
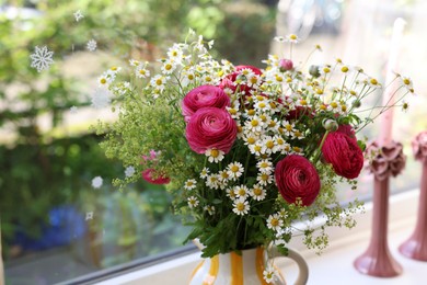
<svg viewBox="0 0 427 285">
<path fill-rule="evenodd" d="M 322 153 L 335 173 L 343 178 L 355 179 L 363 168 L 363 152 L 357 145 L 351 128 L 339 127 L 338 130 L 327 134 Z"/>
</svg>

